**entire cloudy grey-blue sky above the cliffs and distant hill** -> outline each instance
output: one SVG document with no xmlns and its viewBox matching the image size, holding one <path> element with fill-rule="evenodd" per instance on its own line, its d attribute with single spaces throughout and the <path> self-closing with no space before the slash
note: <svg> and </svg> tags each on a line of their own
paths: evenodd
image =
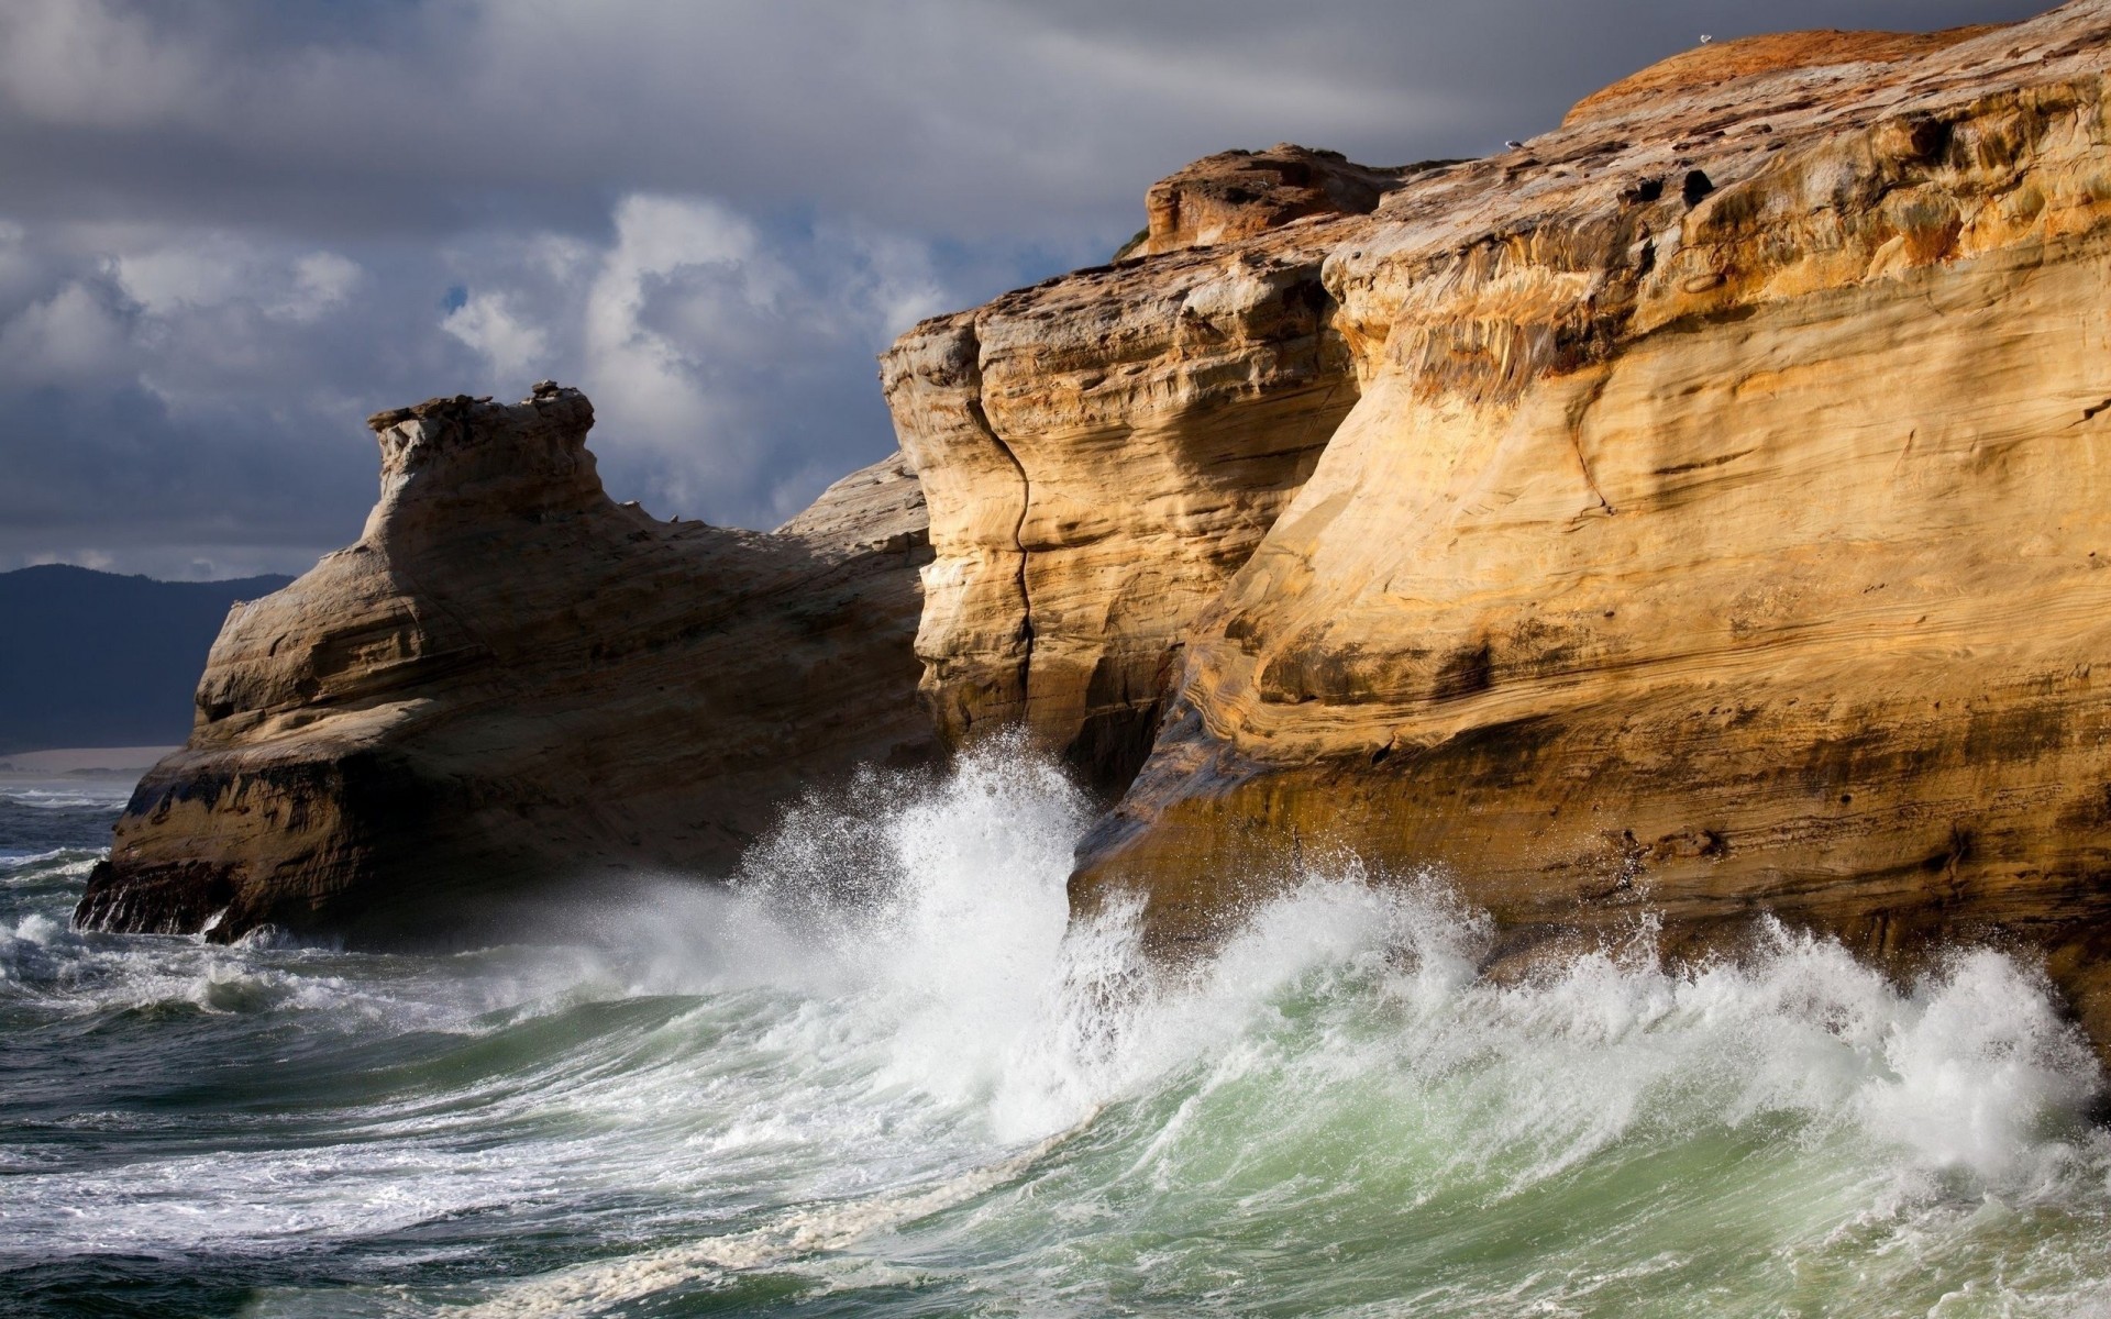
<svg viewBox="0 0 2111 1319">
<path fill-rule="evenodd" d="M 304 570 L 369 412 L 583 386 L 616 498 L 775 525 L 912 321 L 1231 146 L 1499 150 L 1701 34 L 2010 0 L 0 0 L 0 570 Z"/>
</svg>

